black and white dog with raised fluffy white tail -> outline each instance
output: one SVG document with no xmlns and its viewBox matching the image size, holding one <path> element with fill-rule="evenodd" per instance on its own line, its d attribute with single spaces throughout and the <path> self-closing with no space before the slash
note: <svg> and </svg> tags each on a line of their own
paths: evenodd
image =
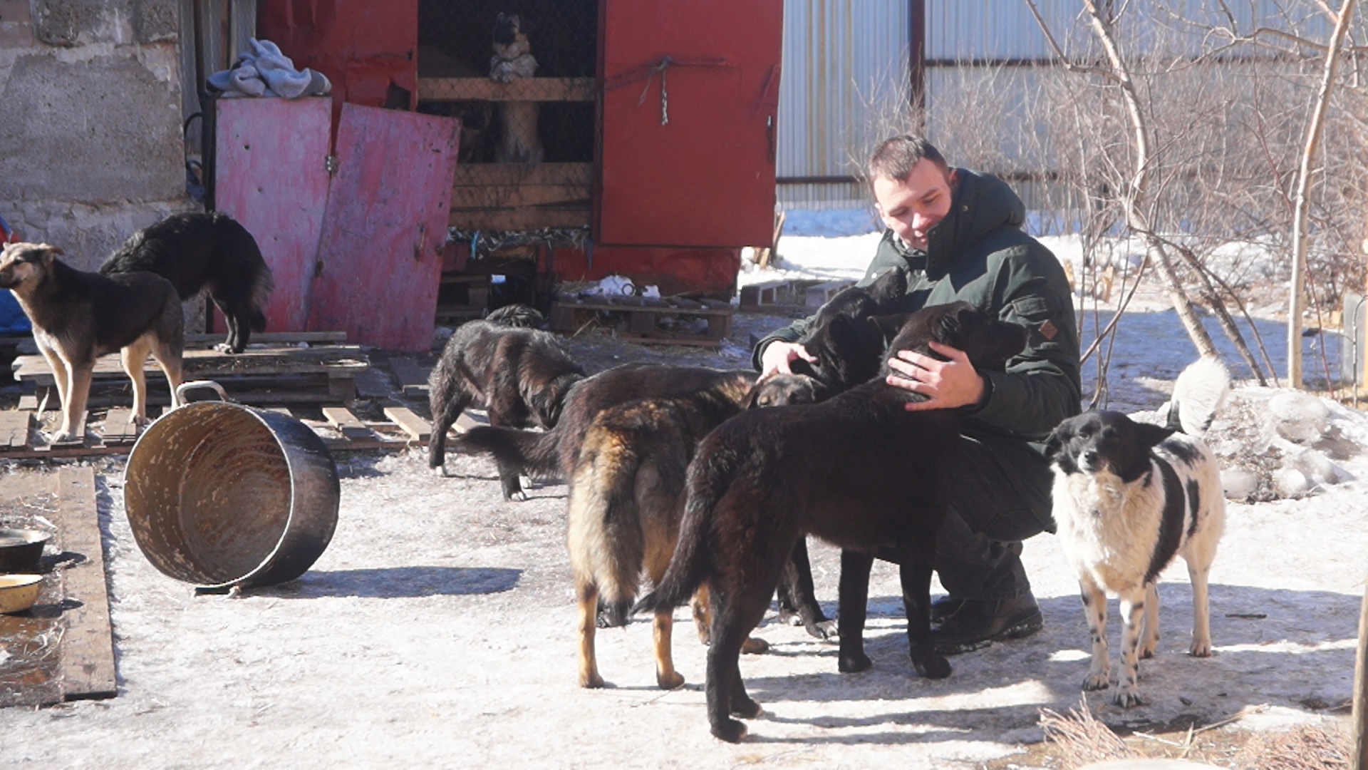
<svg viewBox="0 0 1368 770">
<path fill-rule="evenodd" d="M 1124 708 L 1140 703 L 1140 658 L 1150 658 L 1159 647 L 1156 582 L 1175 555 L 1187 562 L 1193 585 L 1189 652 L 1211 655 L 1207 575 L 1226 523 L 1226 497 L 1215 455 L 1182 430 L 1211 425 L 1228 388 L 1230 374 L 1220 362 L 1201 359 L 1174 385 L 1168 426 L 1089 411 L 1062 422 L 1047 447 L 1055 466 L 1055 523 L 1064 555 L 1078 570 L 1092 632 L 1093 660 L 1083 689 L 1111 684 L 1107 596 L 1116 595 L 1122 671 L 1112 701 Z"/>
</svg>

